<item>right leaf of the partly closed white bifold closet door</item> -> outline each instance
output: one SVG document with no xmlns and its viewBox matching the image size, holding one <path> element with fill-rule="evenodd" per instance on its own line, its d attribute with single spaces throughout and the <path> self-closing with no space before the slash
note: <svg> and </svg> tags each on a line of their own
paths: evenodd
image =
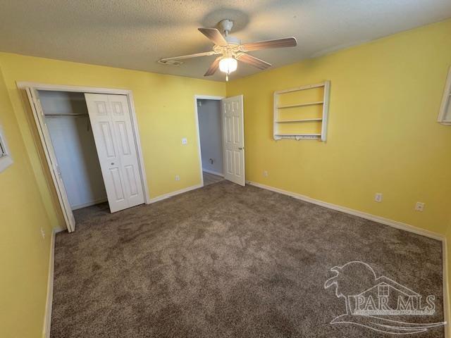
<svg viewBox="0 0 451 338">
<path fill-rule="evenodd" d="M 125 194 L 130 206 L 137 206 L 144 203 L 144 193 L 127 96 L 108 95 L 108 98 L 111 106 L 111 120 L 113 121 L 121 157 Z"/>
</svg>

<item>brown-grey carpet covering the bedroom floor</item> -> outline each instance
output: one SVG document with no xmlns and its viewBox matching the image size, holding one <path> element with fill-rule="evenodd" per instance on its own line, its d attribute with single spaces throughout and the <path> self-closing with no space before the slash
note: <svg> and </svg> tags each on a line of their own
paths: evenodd
<svg viewBox="0 0 451 338">
<path fill-rule="evenodd" d="M 281 194 L 222 181 L 76 218 L 56 236 L 52 338 L 393 337 L 330 324 L 346 307 L 324 283 L 350 261 L 435 295 L 407 320 L 443 321 L 440 242 Z"/>
</svg>

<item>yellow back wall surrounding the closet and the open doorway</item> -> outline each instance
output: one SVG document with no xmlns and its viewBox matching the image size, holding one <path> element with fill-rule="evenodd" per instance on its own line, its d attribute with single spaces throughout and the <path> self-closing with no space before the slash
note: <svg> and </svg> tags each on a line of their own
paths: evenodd
<svg viewBox="0 0 451 338">
<path fill-rule="evenodd" d="M 62 227 L 62 218 L 17 81 L 131 89 L 151 197 L 200 184 L 194 94 L 224 96 L 224 83 L 6 53 L 0 53 L 0 65 L 54 227 Z M 181 145 L 183 137 L 188 139 L 186 146 Z"/>
</svg>

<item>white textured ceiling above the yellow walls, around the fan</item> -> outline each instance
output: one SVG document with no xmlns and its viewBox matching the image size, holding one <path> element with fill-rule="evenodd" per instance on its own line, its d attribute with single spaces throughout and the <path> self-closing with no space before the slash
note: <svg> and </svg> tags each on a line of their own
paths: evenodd
<svg viewBox="0 0 451 338">
<path fill-rule="evenodd" d="M 0 51 L 199 78 L 214 56 L 156 61 L 211 50 L 197 27 L 223 18 L 235 20 L 230 35 L 242 42 L 296 37 L 295 48 L 249 53 L 278 67 L 451 17 L 450 0 L 0 0 L 0 8 Z M 240 63 L 232 78 L 257 71 Z"/>
</svg>

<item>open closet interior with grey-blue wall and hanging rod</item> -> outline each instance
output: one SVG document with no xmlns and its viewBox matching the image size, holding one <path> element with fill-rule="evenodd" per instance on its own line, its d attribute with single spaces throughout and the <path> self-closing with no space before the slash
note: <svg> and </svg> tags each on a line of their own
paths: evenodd
<svg viewBox="0 0 451 338">
<path fill-rule="evenodd" d="M 71 210 L 108 201 L 85 94 L 37 92 Z"/>
</svg>

